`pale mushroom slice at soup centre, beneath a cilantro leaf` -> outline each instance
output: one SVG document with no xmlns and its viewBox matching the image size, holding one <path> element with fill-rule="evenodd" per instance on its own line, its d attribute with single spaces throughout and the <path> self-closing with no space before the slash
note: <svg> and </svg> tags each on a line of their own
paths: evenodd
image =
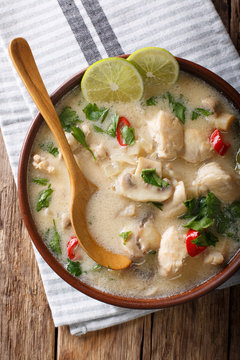
<svg viewBox="0 0 240 360">
<path fill-rule="evenodd" d="M 156 201 L 162 202 L 170 198 L 173 187 L 168 179 L 164 179 L 169 183 L 165 188 L 160 188 L 151 184 L 147 184 L 140 176 L 124 172 L 117 179 L 115 184 L 116 192 L 128 199 L 134 201 Z"/>
</svg>

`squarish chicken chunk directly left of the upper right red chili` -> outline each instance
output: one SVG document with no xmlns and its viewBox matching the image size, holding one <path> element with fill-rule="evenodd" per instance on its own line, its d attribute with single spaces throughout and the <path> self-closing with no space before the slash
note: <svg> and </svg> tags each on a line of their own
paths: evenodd
<svg viewBox="0 0 240 360">
<path fill-rule="evenodd" d="M 199 129 L 186 129 L 184 132 L 184 152 L 182 158 L 188 162 L 196 163 L 209 159 L 212 156 L 212 146 L 209 135 Z"/>
</svg>

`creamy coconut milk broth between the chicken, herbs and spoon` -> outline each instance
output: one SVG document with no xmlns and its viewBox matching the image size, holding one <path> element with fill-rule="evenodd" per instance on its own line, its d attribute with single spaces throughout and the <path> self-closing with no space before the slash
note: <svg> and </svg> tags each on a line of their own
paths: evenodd
<svg viewBox="0 0 240 360">
<path fill-rule="evenodd" d="M 168 89 L 168 91 L 171 92 L 175 98 L 181 97 L 184 99 L 184 104 L 189 109 L 201 107 L 201 100 L 203 98 L 214 96 L 220 100 L 224 111 L 236 114 L 236 110 L 233 109 L 231 104 L 229 104 L 221 94 L 217 93 L 215 89 L 203 81 L 183 72 L 180 73 L 178 82 Z M 160 95 L 162 93 L 163 91 L 159 91 L 159 89 L 155 92 L 155 94 Z M 152 95 L 151 92 L 148 92 L 145 95 L 145 99 Z M 103 143 L 106 152 L 109 154 L 103 160 L 97 159 L 97 161 L 94 161 L 91 154 L 81 145 L 74 150 L 74 155 L 79 167 L 85 176 L 89 178 L 91 182 L 95 183 L 99 189 L 90 199 L 87 208 L 89 230 L 101 245 L 113 252 L 122 253 L 127 256 L 129 256 L 129 250 L 123 245 L 122 238 L 119 234 L 123 229 L 124 231 L 134 231 L 135 227 L 139 225 L 139 222 L 146 214 L 152 214 L 154 225 L 160 234 L 171 225 L 176 226 L 179 231 L 187 233 L 187 230 L 183 230 L 182 228 L 186 220 L 180 220 L 176 216 L 165 216 L 164 206 L 163 211 L 160 211 L 149 203 L 136 202 L 135 216 L 124 217 L 119 215 L 121 211 L 131 205 L 133 201 L 116 193 L 116 179 L 126 168 L 129 172 L 134 172 L 139 156 L 152 159 L 156 158 L 154 147 L 151 150 L 152 139 L 147 131 L 147 122 L 156 116 L 159 110 L 170 111 L 168 102 L 161 96 L 159 96 L 156 106 L 144 105 L 145 99 L 139 104 L 112 104 L 109 111 L 109 113 L 116 112 L 120 116 L 125 116 L 135 129 L 136 144 L 126 147 L 121 147 L 116 138 L 93 131 L 93 125 L 95 125 L 95 123 L 86 120 L 85 114 L 82 112 L 87 102 L 82 98 L 79 88 L 67 94 L 56 106 L 59 114 L 66 106 L 70 106 L 75 110 L 80 119 L 84 121 L 80 124 L 80 127 L 83 124 L 87 124 L 90 128 L 90 133 L 86 137 L 89 147 L 94 151 L 99 144 Z M 109 107 L 109 104 L 98 104 L 98 106 L 104 105 Z M 107 125 L 107 119 L 105 122 Z M 103 126 L 106 125 L 103 123 Z M 206 136 L 209 136 L 213 129 L 212 124 L 203 117 L 192 121 L 190 119 L 190 111 L 186 113 L 184 128 L 186 127 L 201 129 Z M 236 151 L 239 144 L 237 137 L 233 135 L 233 133 L 229 132 L 227 137 L 229 142 L 231 142 L 231 148 L 227 155 L 222 158 L 216 152 L 212 151 L 211 158 L 207 162 L 217 161 L 219 164 L 223 164 L 225 169 L 233 173 L 234 151 Z M 40 148 L 41 143 L 50 141 L 56 144 L 47 125 L 44 124 L 41 126 L 32 147 L 32 155 L 29 162 L 28 195 L 32 215 L 40 235 L 44 237 L 46 230 L 52 227 L 52 221 L 55 219 L 62 248 L 62 255 L 58 256 L 58 259 L 61 264 L 66 267 L 67 243 L 70 237 L 74 235 L 71 226 L 63 229 L 62 225 L 62 215 L 69 214 L 69 179 L 61 156 L 55 158 Z M 151 152 L 151 156 L 149 156 L 149 151 Z M 45 176 L 39 169 L 35 169 L 32 166 L 32 156 L 34 154 L 39 154 L 47 159 L 55 168 L 55 172 Z M 167 160 L 162 161 L 162 163 L 163 175 L 165 177 L 171 178 L 174 173 L 174 179 L 176 181 L 184 181 L 187 199 L 196 196 L 192 181 L 196 178 L 199 167 L 204 163 L 188 163 L 183 159 Z M 49 207 L 42 209 L 40 212 L 36 212 L 36 203 L 42 187 L 32 182 L 32 178 L 35 177 L 47 177 L 53 189 Z M 235 176 L 235 180 L 239 182 L 237 176 Z M 153 254 L 150 251 L 146 253 L 145 256 L 134 259 L 129 269 L 122 271 L 105 268 L 93 270 L 96 263 L 82 250 L 81 265 L 83 274 L 80 276 L 80 279 L 98 289 L 122 296 L 145 298 L 169 296 L 180 293 L 194 287 L 196 284 L 202 283 L 217 273 L 236 252 L 238 248 L 237 242 L 225 237 L 218 237 L 219 242 L 216 245 L 216 249 L 224 251 L 225 253 L 224 262 L 221 265 L 203 263 L 202 253 L 194 258 L 188 256 L 184 260 L 184 266 L 177 274 L 164 277 L 158 272 L 157 254 Z"/>
</svg>

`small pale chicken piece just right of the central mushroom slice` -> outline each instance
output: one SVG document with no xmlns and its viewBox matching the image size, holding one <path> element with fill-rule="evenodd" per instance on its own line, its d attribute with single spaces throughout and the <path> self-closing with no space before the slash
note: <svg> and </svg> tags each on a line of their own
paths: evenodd
<svg viewBox="0 0 240 360">
<path fill-rule="evenodd" d="M 184 205 L 186 201 L 186 192 L 183 181 L 179 181 L 175 187 L 172 197 L 164 203 L 162 216 L 177 217 L 186 212 Z"/>
</svg>

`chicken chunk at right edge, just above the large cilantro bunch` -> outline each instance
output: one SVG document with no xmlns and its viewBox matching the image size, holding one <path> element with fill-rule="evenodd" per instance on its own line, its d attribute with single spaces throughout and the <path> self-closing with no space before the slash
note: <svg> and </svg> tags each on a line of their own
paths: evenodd
<svg viewBox="0 0 240 360">
<path fill-rule="evenodd" d="M 239 198 L 239 189 L 232 176 L 216 162 L 202 166 L 193 181 L 198 195 L 212 191 L 220 200 L 232 202 Z"/>
</svg>

